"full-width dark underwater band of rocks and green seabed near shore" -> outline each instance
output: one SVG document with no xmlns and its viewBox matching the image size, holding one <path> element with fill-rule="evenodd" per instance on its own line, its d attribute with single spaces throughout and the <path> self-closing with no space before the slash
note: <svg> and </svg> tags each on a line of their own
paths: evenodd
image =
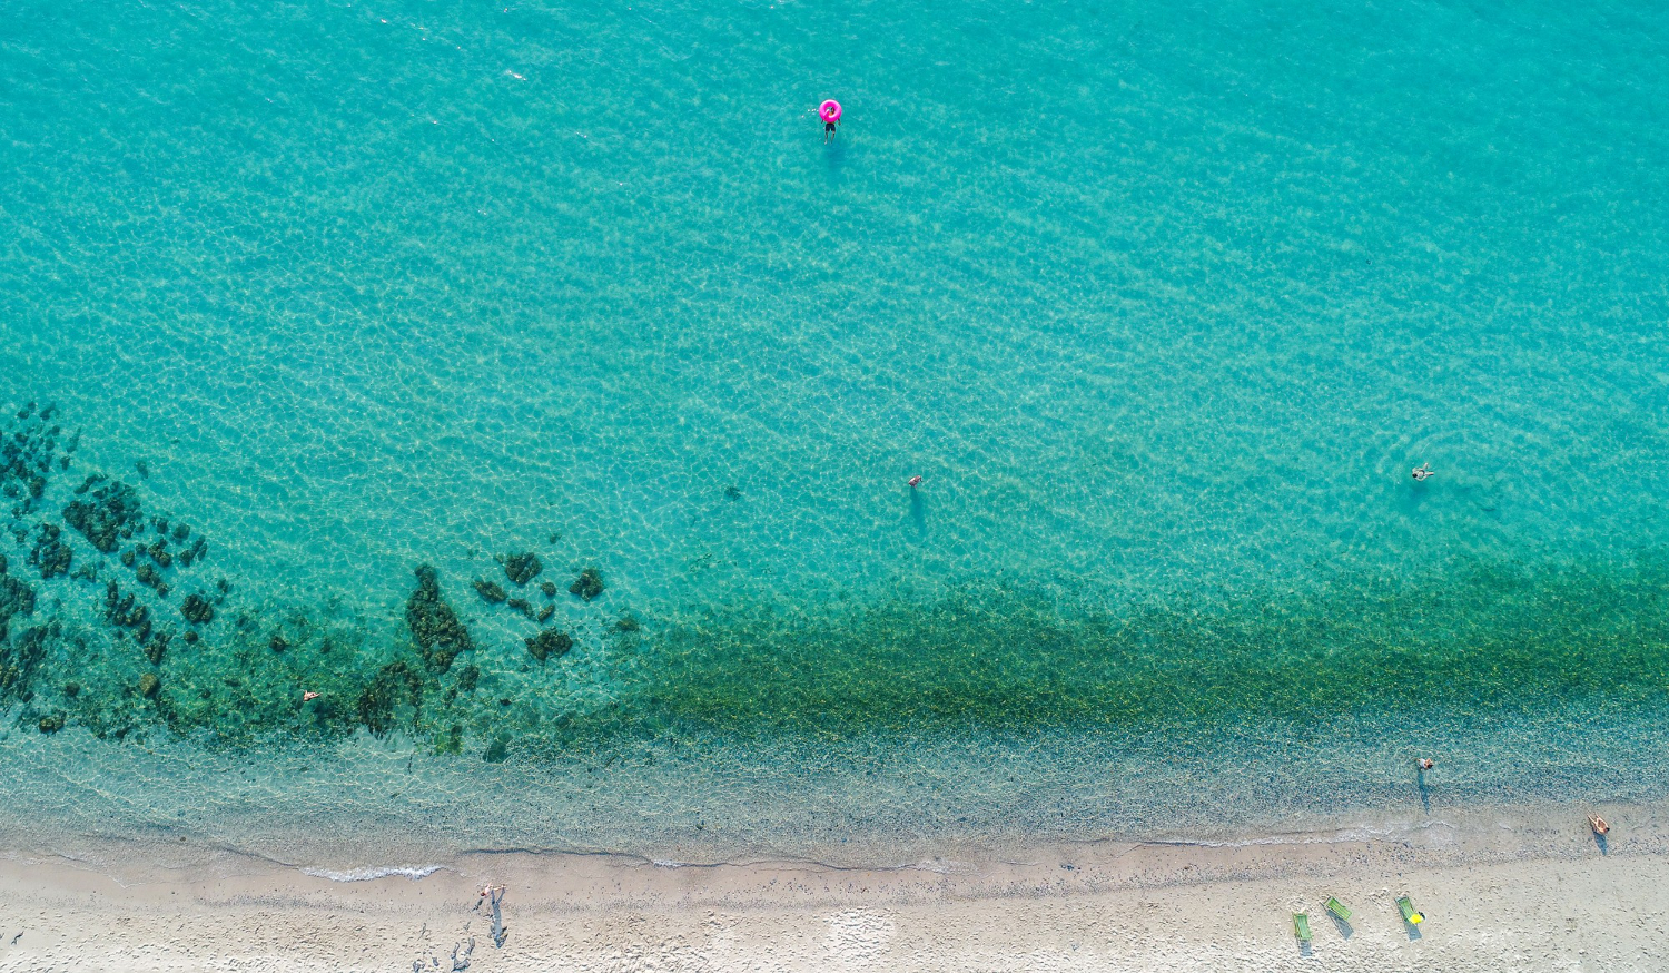
<svg viewBox="0 0 1669 973">
<path fill-rule="evenodd" d="M 1624 713 L 1669 688 L 1657 551 L 1342 576 L 1210 606 L 1092 611 L 990 584 L 794 618 L 659 621 L 592 609 L 603 581 L 586 567 L 574 604 L 599 618 L 584 631 L 547 626 L 551 611 L 531 602 L 467 599 L 527 623 L 511 651 L 484 651 L 454 604 L 471 586 L 497 596 L 497 582 L 417 564 L 392 618 L 255 607 L 209 572 L 200 534 L 147 521 L 135 487 L 65 477 L 67 502 L 52 502 L 72 459 L 58 434 L 50 412 L 30 411 L 0 474 L 15 501 L 0 693 L 17 724 L 43 733 L 247 746 L 401 731 L 506 759 L 689 734 L 1197 734 L 1369 711 Z M 499 561 L 516 586 L 542 571 L 532 552 Z"/>
</svg>

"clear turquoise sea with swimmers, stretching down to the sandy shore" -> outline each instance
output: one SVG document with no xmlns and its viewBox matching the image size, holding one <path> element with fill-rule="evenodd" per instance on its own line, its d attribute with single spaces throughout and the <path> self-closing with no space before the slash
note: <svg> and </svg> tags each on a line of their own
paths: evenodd
<svg viewBox="0 0 1669 973">
<path fill-rule="evenodd" d="M 1669 794 L 1654 5 L 5 15 L 20 834 Z"/>
</svg>

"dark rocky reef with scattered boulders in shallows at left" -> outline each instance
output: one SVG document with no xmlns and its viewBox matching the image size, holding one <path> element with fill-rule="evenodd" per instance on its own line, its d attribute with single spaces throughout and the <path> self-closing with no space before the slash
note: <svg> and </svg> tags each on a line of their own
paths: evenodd
<svg viewBox="0 0 1669 973">
<path fill-rule="evenodd" d="M 160 509 L 149 496 L 155 477 L 73 471 L 78 444 L 52 407 L 28 406 L 0 427 L 10 501 L 0 706 L 13 723 L 207 746 L 401 733 L 434 738 L 437 753 L 496 746 L 502 756 L 574 706 L 598 704 L 551 696 L 566 678 L 554 663 L 582 654 L 582 639 L 549 624 L 559 589 L 539 581 L 541 552 L 497 556 L 501 581 L 449 582 L 432 564 L 414 566 L 397 631 L 329 597 L 270 604 L 212 572 L 209 532 Z M 491 651 L 452 601 L 471 587 L 481 607 L 502 613 Z M 531 633 L 506 641 L 506 624 Z M 606 621 L 589 629 L 587 644 L 604 646 Z"/>
</svg>

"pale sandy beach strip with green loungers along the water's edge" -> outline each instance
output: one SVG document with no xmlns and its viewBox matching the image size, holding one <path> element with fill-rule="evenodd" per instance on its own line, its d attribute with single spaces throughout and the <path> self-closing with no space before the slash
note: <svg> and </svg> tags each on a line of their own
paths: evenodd
<svg viewBox="0 0 1669 973">
<path fill-rule="evenodd" d="M 87 843 L 0 861 L 0 970 L 1661 970 L 1662 831 L 1646 808 L 1611 814 L 1604 848 L 1569 814 L 1479 811 L 1392 838 L 1105 841 L 891 870 L 477 853 L 361 880 Z M 506 886 L 502 946 L 487 883 Z"/>
</svg>

